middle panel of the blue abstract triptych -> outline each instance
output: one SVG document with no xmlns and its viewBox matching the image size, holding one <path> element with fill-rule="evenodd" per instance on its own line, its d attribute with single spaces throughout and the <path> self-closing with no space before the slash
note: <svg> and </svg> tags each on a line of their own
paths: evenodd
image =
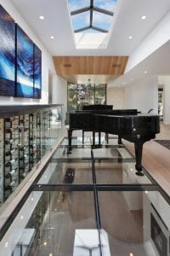
<svg viewBox="0 0 170 256">
<path fill-rule="evenodd" d="M 33 42 L 20 26 L 16 35 L 16 96 L 33 98 Z"/>
</svg>

